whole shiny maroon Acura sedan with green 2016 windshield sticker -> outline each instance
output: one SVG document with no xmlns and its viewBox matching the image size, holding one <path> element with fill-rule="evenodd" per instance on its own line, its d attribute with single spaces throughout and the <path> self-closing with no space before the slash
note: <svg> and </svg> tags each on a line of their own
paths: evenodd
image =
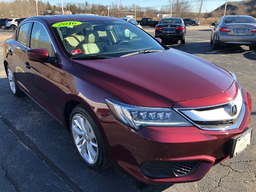
<svg viewBox="0 0 256 192">
<path fill-rule="evenodd" d="M 252 100 L 235 74 L 125 20 L 30 17 L 3 49 L 14 96 L 63 124 L 92 169 L 191 182 L 250 145 Z"/>
</svg>

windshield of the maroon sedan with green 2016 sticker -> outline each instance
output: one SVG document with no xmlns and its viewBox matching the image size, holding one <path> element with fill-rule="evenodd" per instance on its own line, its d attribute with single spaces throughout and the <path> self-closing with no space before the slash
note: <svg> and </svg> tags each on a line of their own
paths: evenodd
<svg viewBox="0 0 256 192">
<path fill-rule="evenodd" d="M 102 58 L 96 55 L 113 58 L 132 52 L 169 49 L 124 20 L 67 21 L 54 23 L 52 28 L 69 58 Z"/>
</svg>

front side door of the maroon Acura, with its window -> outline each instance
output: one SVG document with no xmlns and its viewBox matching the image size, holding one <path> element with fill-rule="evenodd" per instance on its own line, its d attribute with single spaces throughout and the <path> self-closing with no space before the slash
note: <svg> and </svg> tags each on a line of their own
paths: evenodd
<svg viewBox="0 0 256 192">
<path fill-rule="evenodd" d="M 38 22 L 33 22 L 29 40 L 29 48 L 46 48 L 49 56 L 55 57 L 55 49 L 47 29 Z M 24 58 L 26 87 L 29 95 L 43 108 L 59 119 L 61 110 L 58 101 L 58 80 L 60 68 L 58 62 L 47 63 Z"/>
</svg>

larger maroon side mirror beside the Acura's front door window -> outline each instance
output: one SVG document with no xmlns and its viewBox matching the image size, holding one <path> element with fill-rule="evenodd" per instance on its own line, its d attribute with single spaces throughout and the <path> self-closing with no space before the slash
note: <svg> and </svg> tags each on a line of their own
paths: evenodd
<svg viewBox="0 0 256 192">
<path fill-rule="evenodd" d="M 44 48 L 29 49 L 27 55 L 31 61 L 44 62 L 49 59 L 49 52 Z"/>
</svg>

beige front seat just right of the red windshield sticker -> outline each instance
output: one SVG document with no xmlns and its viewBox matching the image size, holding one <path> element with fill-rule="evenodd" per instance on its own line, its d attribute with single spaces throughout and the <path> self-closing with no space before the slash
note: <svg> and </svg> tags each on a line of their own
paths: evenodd
<svg viewBox="0 0 256 192">
<path fill-rule="evenodd" d="M 82 52 L 84 54 L 94 54 L 102 51 L 106 43 L 99 42 L 99 33 L 97 31 L 87 31 L 86 44 L 82 44 Z"/>
</svg>

